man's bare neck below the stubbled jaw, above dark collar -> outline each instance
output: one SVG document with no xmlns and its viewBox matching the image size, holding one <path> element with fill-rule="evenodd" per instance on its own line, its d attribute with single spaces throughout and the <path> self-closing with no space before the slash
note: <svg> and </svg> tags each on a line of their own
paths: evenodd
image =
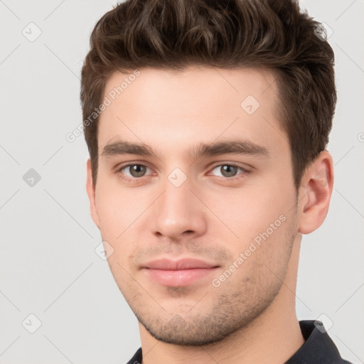
<svg viewBox="0 0 364 364">
<path fill-rule="evenodd" d="M 304 344 L 295 310 L 299 242 L 291 252 L 289 268 L 272 304 L 248 326 L 218 343 L 176 346 L 156 340 L 139 323 L 143 361 L 141 364 L 282 364 Z M 293 267 L 293 268 L 292 268 Z"/>
</svg>

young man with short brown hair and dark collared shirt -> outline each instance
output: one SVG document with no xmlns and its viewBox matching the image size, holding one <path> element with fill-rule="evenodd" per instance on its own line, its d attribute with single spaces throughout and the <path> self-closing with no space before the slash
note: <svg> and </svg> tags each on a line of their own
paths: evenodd
<svg viewBox="0 0 364 364">
<path fill-rule="evenodd" d="M 82 68 L 87 194 L 129 363 L 348 363 L 298 321 L 333 189 L 333 50 L 293 1 L 125 1 Z M 320 28 L 319 28 L 320 29 Z"/>
</svg>

